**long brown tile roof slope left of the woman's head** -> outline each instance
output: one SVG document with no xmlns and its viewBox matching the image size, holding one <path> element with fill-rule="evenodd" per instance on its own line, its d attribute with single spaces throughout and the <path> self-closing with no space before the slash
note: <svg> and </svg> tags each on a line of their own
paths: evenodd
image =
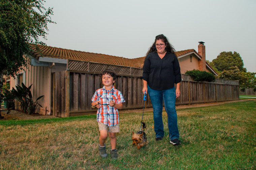
<svg viewBox="0 0 256 170">
<path fill-rule="evenodd" d="M 128 67 L 137 67 L 141 68 L 141 65 L 137 60 L 111 56 L 106 54 L 98 54 L 98 53 L 89 53 L 83 51 L 76 50 L 68 50 L 57 47 L 50 46 L 42 46 L 37 45 L 41 50 L 41 54 L 36 51 L 36 45 L 32 44 L 31 48 L 33 50 L 32 56 L 35 58 L 39 57 L 52 57 L 52 58 L 60 58 L 60 59 L 72 59 L 72 60 L 80 60 L 80 61 L 89 61 L 89 62 L 97 62 L 103 64 L 113 64 L 113 65 L 122 65 Z"/>
</svg>

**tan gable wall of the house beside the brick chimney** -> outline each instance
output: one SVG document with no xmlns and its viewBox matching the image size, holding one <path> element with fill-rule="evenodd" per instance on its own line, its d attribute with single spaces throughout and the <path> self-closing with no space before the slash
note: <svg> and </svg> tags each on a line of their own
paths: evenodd
<svg viewBox="0 0 256 170">
<path fill-rule="evenodd" d="M 190 56 L 192 56 L 192 62 L 190 62 Z M 198 57 L 194 54 L 187 55 L 185 57 L 179 58 L 179 63 L 181 67 L 181 73 L 185 74 L 187 70 L 199 69 L 198 67 Z"/>
</svg>

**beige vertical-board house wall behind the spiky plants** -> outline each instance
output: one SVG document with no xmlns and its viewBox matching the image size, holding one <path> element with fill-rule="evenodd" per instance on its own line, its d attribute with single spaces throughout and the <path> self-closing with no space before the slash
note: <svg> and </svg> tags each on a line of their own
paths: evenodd
<svg viewBox="0 0 256 170">
<path fill-rule="evenodd" d="M 24 68 L 23 71 L 23 83 L 26 87 L 29 87 L 31 84 L 31 94 L 33 100 L 35 101 L 39 96 L 44 95 L 38 103 L 42 106 L 37 107 L 37 113 L 45 115 L 49 112 L 51 106 L 51 69 L 49 67 L 42 66 L 31 66 Z M 10 80 L 10 89 L 15 88 L 17 85 L 17 78 L 11 77 Z M 20 109 L 19 106 L 16 106 L 15 109 Z"/>
</svg>

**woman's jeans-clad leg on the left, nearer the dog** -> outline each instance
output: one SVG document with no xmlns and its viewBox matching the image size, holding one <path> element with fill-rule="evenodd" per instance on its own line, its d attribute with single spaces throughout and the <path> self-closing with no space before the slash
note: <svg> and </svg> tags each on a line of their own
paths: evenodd
<svg viewBox="0 0 256 170">
<path fill-rule="evenodd" d="M 153 106 L 154 129 L 156 137 L 164 137 L 164 125 L 162 119 L 163 98 L 162 90 L 153 90 L 148 86 L 149 97 Z"/>
</svg>

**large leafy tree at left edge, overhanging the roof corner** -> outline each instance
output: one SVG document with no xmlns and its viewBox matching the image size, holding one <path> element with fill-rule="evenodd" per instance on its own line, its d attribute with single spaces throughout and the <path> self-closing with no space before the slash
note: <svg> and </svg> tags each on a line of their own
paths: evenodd
<svg viewBox="0 0 256 170">
<path fill-rule="evenodd" d="M 30 43 L 45 45 L 39 38 L 46 40 L 47 23 L 55 22 L 50 17 L 53 8 L 44 8 L 43 2 L 0 1 L 0 89 L 3 74 L 14 76 L 23 66 L 27 66 L 28 61 L 23 55 L 30 54 Z"/>
</svg>

